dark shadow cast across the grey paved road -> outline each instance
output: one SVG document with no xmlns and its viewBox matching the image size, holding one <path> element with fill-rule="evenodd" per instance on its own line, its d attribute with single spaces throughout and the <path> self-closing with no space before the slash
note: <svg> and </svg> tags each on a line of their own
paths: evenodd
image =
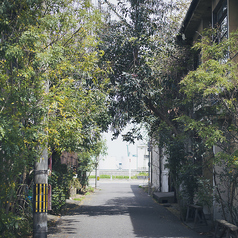
<svg viewBox="0 0 238 238">
<path fill-rule="evenodd" d="M 131 191 L 123 192 L 122 196 L 116 195 L 113 199 L 106 200 L 103 205 L 67 204 L 68 212 L 63 219 L 63 227 L 49 230 L 49 234 L 76 234 L 73 223 L 80 222 L 80 216 L 111 216 L 113 219 L 113 216 L 126 215 L 130 217 L 134 237 L 204 237 L 185 227 L 177 217 L 156 203 L 138 185 L 131 185 L 130 188 Z"/>
</svg>

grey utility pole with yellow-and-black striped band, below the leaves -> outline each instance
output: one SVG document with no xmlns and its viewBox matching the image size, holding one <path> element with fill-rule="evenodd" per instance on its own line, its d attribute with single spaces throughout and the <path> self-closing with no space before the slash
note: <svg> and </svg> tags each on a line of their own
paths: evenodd
<svg viewBox="0 0 238 238">
<path fill-rule="evenodd" d="M 35 185 L 33 205 L 33 237 L 47 238 L 48 207 L 48 151 L 43 150 L 41 158 L 35 162 Z"/>
</svg>

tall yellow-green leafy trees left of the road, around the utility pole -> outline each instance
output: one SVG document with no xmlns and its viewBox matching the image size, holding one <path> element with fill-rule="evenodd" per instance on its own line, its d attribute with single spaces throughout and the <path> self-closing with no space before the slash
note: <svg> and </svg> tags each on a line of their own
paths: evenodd
<svg viewBox="0 0 238 238">
<path fill-rule="evenodd" d="M 3 0 L 0 12 L 0 230 L 23 236 L 18 188 L 39 148 L 80 151 L 107 126 L 101 16 L 87 0 Z"/>
</svg>

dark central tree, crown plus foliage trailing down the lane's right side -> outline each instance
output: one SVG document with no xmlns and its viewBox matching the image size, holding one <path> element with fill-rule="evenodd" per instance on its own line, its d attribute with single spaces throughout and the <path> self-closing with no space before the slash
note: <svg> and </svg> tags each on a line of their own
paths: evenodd
<svg viewBox="0 0 238 238">
<path fill-rule="evenodd" d="M 184 2 L 119 2 L 121 21 L 109 22 L 100 45 L 105 52 L 102 59 L 110 61 L 112 67 L 109 113 L 114 136 L 128 122 L 145 124 L 149 136 L 159 141 L 160 148 L 166 148 L 167 166 L 176 191 L 192 176 L 189 166 L 183 170 L 190 159 L 185 147 L 190 132 L 184 132 L 184 123 L 176 120 L 192 112 L 192 103 L 185 101 L 180 92 L 180 81 L 194 55 L 176 44 L 177 30 L 186 12 Z M 136 128 L 123 137 L 132 142 L 140 138 Z M 195 149 L 191 153 L 195 154 Z M 193 188 L 187 184 L 187 190 Z"/>
</svg>

